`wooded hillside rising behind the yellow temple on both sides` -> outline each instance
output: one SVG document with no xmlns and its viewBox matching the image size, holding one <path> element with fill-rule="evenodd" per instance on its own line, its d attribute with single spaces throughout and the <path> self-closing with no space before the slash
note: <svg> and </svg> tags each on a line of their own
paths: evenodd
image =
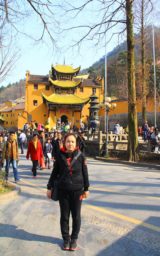
<svg viewBox="0 0 160 256">
<path fill-rule="evenodd" d="M 154 96 L 154 66 L 153 66 L 153 43 L 152 29 L 147 28 L 145 38 L 146 60 L 146 97 Z M 160 97 L 160 28 L 154 28 L 155 36 L 155 60 L 156 60 L 156 95 Z M 134 35 L 135 42 L 135 75 L 136 97 L 141 98 L 141 40 L 140 34 Z M 90 73 L 91 79 L 97 76 L 105 78 L 105 56 L 93 63 L 89 68 L 83 69 L 79 74 Z M 0 87 L 0 103 L 5 100 L 15 100 L 25 96 L 26 79 L 19 82 L 9 83 L 6 87 Z M 113 51 L 107 54 L 107 94 L 112 99 L 127 99 L 127 42 L 117 45 Z"/>
</svg>

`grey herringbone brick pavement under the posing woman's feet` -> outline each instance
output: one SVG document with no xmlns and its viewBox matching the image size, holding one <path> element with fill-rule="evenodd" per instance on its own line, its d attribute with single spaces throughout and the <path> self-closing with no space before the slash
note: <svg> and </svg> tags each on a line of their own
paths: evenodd
<svg viewBox="0 0 160 256">
<path fill-rule="evenodd" d="M 59 203 L 32 188 L 23 187 L 19 196 L 0 203 L 0 223 L 0 255 L 160 256 L 160 251 L 84 218 L 77 250 L 64 251 Z"/>
</svg>

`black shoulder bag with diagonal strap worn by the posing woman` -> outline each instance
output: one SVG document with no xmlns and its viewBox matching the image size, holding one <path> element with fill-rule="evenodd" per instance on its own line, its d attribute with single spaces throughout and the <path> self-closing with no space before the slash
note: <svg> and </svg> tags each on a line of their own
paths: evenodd
<svg viewBox="0 0 160 256">
<path fill-rule="evenodd" d="M 54 180 L 54 187 L 52 188 L 52 194 L 51 194 L 51 199 L 54 201 L 58 201 L 59 199 L 59 191 L 58 191 L 58 186 L 60 184 L 60 182 L 63 180 L 63 178 L 66 176 L 67 172 L 70 170 L 70 168 L 72 167 L 72 165 L 74 164 L 74 162 L 77 160 L 78 156 L 80 156 L 82 152 L 78 151 L 78 154 L 73 158 L 72 162 L 69 164 L 69 166 L 67 167 L 67 169 L 64 171 L 63 175 L 57 179 Z"/>
</svg>

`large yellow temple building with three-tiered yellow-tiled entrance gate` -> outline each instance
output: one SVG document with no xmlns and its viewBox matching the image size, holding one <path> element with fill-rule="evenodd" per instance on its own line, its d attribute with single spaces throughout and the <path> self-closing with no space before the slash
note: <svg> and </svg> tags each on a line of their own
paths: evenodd
<svg viewBox="0 0 160 256">
<path fill-rule="evenodd" d="M 78 127 L 81 122 L 87 122 L 93 90 L 99 102 L 103 102 L 104 79 L 91 80 L 89 74 L 78 75 L 80 68 L 52 64 L 49 76 L 30 75 L 27 71 L 25 111 L 28 122 L 48 120 L 51 127 L 56 127 L 57 118 L 71 126 L 76 123 Z"/>
</svg>

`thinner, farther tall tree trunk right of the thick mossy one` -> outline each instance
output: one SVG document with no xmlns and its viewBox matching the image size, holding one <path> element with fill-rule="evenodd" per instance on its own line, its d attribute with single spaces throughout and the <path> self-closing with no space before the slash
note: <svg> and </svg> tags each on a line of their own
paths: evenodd
<svg viewBox="0 0 160 256">
<path fill-rule="evenodd" d="M 141 43 L 142 43 L 142 124 L 146 121 L 146 73 L 145 73 L 145 43 L 143 24 L 143 1 L 141 5 Z"/>
</svg>

